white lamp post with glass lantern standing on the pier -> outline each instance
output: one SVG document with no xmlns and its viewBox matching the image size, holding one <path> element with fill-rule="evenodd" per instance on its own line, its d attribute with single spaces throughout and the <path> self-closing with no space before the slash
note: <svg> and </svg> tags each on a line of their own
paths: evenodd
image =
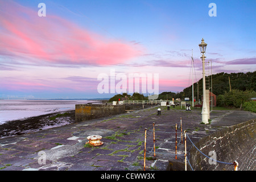
<svg viewBox="0 0 256 182">
<path fill-rule="evenodd" d="M 207 109 L 207 102 L 206 102 L 206 94 L 205 94 L 205 68 L 204 68 L 204 60 L 205 60 L 205 49 L 207 48 L 207 43 L 204 42 L 202 39 L 201 44 L 199 44 L 200 51 L 202 53 L 202 57 L 200 57 L 203 61 L 203 107 L 202 107 L 202 122 L 204 124 L 208 124 L 208 109 Z"/>
</svg>

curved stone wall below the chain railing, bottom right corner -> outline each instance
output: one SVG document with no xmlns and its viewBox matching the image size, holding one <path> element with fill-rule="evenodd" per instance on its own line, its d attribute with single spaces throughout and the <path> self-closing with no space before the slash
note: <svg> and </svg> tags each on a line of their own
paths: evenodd
<svg viewBox="0 0 256 182">
<path fill-rule="evenodd" d="M 216 152 L 216 160 L 220 162 L 233 163 L 238 162 L 239 171 L 255 171 L 256 170 L 256 125 L 255 119 L 240 123 L 222 129 L 205 137 L 195 143 L 207 156 L 214 157 L 209 154 L 210 151 Z M 209 160 L 202 155 L 195 147 L 190 150 L 189 162 L 196 171 L 201 170 L 234 170 L 234 166 L 230 164 L 222 164 Z"/>
</svg>

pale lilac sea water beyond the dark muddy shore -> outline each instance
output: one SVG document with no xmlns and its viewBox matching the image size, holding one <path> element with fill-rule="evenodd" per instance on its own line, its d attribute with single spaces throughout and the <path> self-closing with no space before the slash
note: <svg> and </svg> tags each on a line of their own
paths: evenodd
<svg viewBox="0 0 256 182">
<path fill-rule="evenodd" d="M 75 110 L 76 104 L 87 104 L 88 100 L 0 100 L 0 125 L 16 119 L 35 117 L 59 111 Z M 101 102 L 101 101 L 99 101 Z"/>
</svg>

